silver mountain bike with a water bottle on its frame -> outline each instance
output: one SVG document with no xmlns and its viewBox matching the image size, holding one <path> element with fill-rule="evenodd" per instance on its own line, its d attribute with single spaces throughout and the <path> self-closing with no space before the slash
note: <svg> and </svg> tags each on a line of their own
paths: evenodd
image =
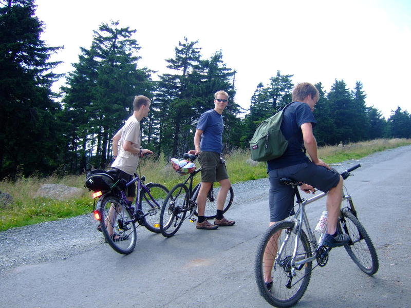
<svg viewBox="0 0 411 308">
<path fill-rule="evenodd" d="M 345 170 L 341 176 L 344 180 L 347 179 L 350 172 L 360 166 L 358 164 Z M 293 218 L 270 226 L 261 238 L 255 256 L 255 278 L 259 292 L 267 302 L 277 307 L 290 307 L 307 290 L 312 270 L 316 266 L 325 266 L 328 261 L 331 248 L 322 245 L 324 234 L 320 234 L 317 240 L 305 211 L 306 205 L 327 194 L 322 192 L 304 200 L 298 191 L 298 182 L 288 178 L 280 181 L 294 188 L 298 209 Z M 361 271 L 373 275 L 379 267 L 376 249 L 358 220 L 357 211 L 346 188 L 343 200 L 347 204 L 341 209 L 337 228 L 350 236 L 349 243 L 344 247 Z M 314 266 L 313 262 L 316 262 Z M 269 287 L 265 283 L 268 275 L 271 275 L 273 281 Z"/>
</svg>

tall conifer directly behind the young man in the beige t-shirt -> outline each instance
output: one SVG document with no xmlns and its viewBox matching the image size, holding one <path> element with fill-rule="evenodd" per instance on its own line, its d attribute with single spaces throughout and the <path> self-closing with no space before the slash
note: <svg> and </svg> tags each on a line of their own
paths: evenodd
<svg viewBox="0 0 411 308">
<path fill-rule="evenodd" d="M 151 71 L 137 68 L 140 46 L 132 38 L 135 32 L 120 28 L 119 22 L 101 24 L 94 31 L 91 48 L 82 48 L 79 63 L 74 64 L 67 86 L 63 87 L 64 117 L 78 116 L 80 120 L 71 129 L 71 149 L 79 150 L 75 142 L 79 140 L 82 155 L 91 149 L 92 157 L 86 156 L 94 166 L 103 168 L 109 161 L 111 138 L 133 113 L 134 96 L 150 97 L 153 90 Z M 144 122 L 141 124 L 145 131 Z M 79 167 L 84 168 L 84 163 L 82 158 Z"/>
</svg>

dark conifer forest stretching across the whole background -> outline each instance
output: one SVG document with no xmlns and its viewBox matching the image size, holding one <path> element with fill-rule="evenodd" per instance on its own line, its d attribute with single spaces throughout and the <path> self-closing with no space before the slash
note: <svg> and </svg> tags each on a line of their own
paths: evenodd
<svg viewBox="0 0 411 308">
<path fill-rule="evenodd" d="M 166 158 L 193 149 L 197 121 L 214 108 L 218 90 L 230 95 L 223 112 L 225 153 L 248 148 L 258 123 L 291 102 L 293 75 L 276 71 L 255 85 L 249 109 L 241 108 L 235 68 L 227 67 L 221 51 L 204 59 L 198 41 L 187 37 L 165 59 L 169 72 L 153 80 L 155 72 L 139 65 L 137 30 L 119 22 L 102 23 L 72 70 L 55 74 L 60 62 L 51 62 L 50 55 L 63 47 L 48 46 L 42 32 L 34 0 L 0 1 L 0 179 L 105 168 L 111 138 L 133 113 L 135 95 L 152 100 L 141 123 L 142 146 Z M 53 82 L 64 77 L 65 85 L 53 92 Z M 385 119 L 380 110 L 367 107 L 361 81 L 349 89 L 336 79 L 329 92 L 321 83 L 315 86 L 320 101 L 314 135 L 320 146 L 411 137 L 411 115 L 397 107 Z"/>
</svg>

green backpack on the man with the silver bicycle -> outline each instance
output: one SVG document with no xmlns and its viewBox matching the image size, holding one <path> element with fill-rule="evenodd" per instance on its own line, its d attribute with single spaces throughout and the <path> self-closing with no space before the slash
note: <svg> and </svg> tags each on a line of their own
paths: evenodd
<svg viewBox="0 0 411 308">
<path fill-rule="evenodd" d="M 288 141 L 280 127 L 284 110 L 291 104 L 292 102 L 258 125 L 253 138 L 249 141 L 252 160 L 267 162 L 284 154 Z"/>
</svg>

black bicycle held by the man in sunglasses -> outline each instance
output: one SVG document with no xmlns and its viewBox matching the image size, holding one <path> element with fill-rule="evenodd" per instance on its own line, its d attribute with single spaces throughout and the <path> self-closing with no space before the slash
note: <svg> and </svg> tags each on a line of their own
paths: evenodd
<svg viewBox="0 0 411 308">
<path fill-rule="evenodd" d="M 192 154 L 185 153 L 183 158 L 187 161 L 194 163 L 196 156 Z M 160 214 L 160 230 L 161 234 L 165 237 L 173 236 L 184 220 L 189 219 L 191 222 L 195 222 L 196 218 L 193 216 L 198 216 L 196 211 L 197 208 L 197 196 L 201 187 L 201 183 L 197 184 L 193 188 L 193 178 L 198 172 L 201 171 L 201 168 L 198 168 L 191 173 L 185 179 L 183 183 L 178 183 L 174 186 L 167 197 L 164 200 L 162 205 L 161 214 Z M 177 170 L 177 172 L 179 172 Z M 187 187 L 188 184 L 188 187 Z M 217 196 L 220 187 L 214 187 L 214 183 L 211 185 L 211 188 L 207 194 L 206 201 L 206 219 L 214 219 L 217 211 Z M 227 194 L 226 202 L 223 206 L 223 213 L 230 208 L 234 199 L 233 188 L 230 187 Z"/>
</svg>

